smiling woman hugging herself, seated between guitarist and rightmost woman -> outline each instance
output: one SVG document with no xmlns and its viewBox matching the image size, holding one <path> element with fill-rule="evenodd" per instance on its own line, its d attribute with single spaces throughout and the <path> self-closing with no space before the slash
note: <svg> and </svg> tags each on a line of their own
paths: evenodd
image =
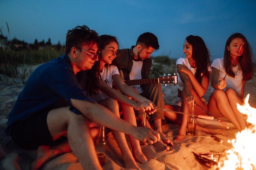
<svg viewBox="0 0 256 170">
<path fill-rule="evenodd" d="M 199 36 L 189 35 L 184 42 L 184 54 L 186 58 L 176 61 L 178 76 L 178 95 L 175 105 L 166 105 L 166 109 L 182 111 L 191 114 L 191 108 L 195 108 L 196 115 L 204 115 L 207 110 L 206 101 L 203 98 L 209 85 L 211 73 L 210 54 L 204 40 Z M 196 101 L 203 109 L 195 105 Z M 179 115 L 175 112 L 165 112 L 168 120 L 180 124 L 178 136 L 175 140 L 183 140 L 186 135 L 188 116 Z M 201 126 L 197 126 L 201 129 Z"/>
</svg>

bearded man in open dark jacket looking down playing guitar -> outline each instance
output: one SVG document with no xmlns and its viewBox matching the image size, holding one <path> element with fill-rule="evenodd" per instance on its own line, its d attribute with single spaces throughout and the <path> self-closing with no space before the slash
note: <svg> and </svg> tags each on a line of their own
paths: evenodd
<svg viewBox="0 0 256 170">
<path fill-rule="evenodd" d="M 153 33 L 143 33 L 138 37 L 135 46 L 132 46 L 130 49 L 119 50 L 118 57 L 114 59 L 113 63 L 123 72 L 125 80 L 145 79 L 148 78 L 152 64 L 150 55 L 158 49 L 157 37 Z M 133 85 L 132 87 L 141 96 L 151 100 L 159 108 L 155 113 L 150 115 L 150 122 L 153 122 L 153 128 L 162 137 L 162 140 L 155 143 L 154 146 L 156 146 L 157 150 L 170 150 L 168 145 L 173 145 L 173 143 L 166 138 L 162 131 L 162 120 L 165 120 L 162 85 L 155 83 L 150 85 Z M 141 123 L 143 112 L 135 111 L 135 115 L 138 120 L 137 122 Z M 148 127 L 150 126 L 148 125 Z"/>
</svg>

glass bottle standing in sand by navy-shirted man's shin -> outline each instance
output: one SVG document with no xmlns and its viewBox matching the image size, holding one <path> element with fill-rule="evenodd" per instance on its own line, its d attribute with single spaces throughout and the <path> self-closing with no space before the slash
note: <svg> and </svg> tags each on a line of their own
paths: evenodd
<svg viewBox="0 0 256 170">
<path fill-rule="evenodd" d="M 101 166 L 105 164 L 106 145 L 107 145 L 107 142 L 105 140 L 105 126 L 101 125 L 100 131 L 99 131 L 99 137 L 96 141 L 96 146 L 95 146 L 97 157 L 99 159 L 99 163 L 101 164 Z"/>
</svg>

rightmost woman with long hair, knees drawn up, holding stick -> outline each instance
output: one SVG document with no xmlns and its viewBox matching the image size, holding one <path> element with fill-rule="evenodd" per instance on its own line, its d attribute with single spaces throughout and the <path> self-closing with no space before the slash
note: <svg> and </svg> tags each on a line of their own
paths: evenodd
<svg viewBox="0 0 256 170">
<path fill-rule="evenodd" d="M 244 35 L 234 33 L 226 42 L 224 58 L 211 64 L 211 97 L 208 111 L 215 117 L 225 116 L 241 131 L 246 117 L 237 109 L 243 104 L 245 82 L 254 74 L 252 49 Z"/>
</svg>

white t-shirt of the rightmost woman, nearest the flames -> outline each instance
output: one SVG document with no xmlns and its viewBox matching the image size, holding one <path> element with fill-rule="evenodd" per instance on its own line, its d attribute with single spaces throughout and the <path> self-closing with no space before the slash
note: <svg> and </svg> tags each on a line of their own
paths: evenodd
<svg viewBox="0 0 256 170">
<path fill-rule="evenodd" d="M 219 72 L 219 79 L 223 78 L 226 75 L 226 71 L 224 68 L 224 58 L 222 59 L 215 59 L 213 60 L 213 63 L 211 64 L 212 67 L 220 70 Z M 242 90 L 242 82 L 243 82 L 243 72 L 241 70 L 240 64 L 238 63 L 235 67 L 231 67 L 232 71 L 236 74 L 236 76 L 233 78 L 227 74 L 225 77 L 227 87 L 223 89 L 224 91 L 227 88 L 233 88 L 236 90 L 238 95 L 241 95 L 241 90 Z M 216 89 L 211 87 L 211 93 L 213 93 Z"/>
</svg>

